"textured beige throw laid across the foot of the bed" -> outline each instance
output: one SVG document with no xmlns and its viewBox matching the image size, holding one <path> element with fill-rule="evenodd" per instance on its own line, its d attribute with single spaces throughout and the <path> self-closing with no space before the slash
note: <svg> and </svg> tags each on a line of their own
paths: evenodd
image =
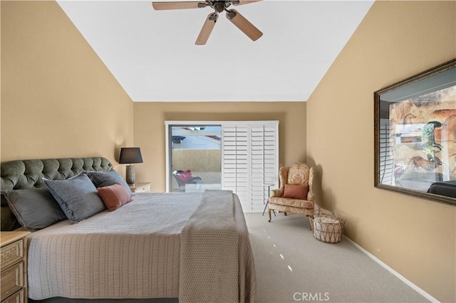
<svg viewBox="0 0 456 303">
<path fill-rule="evenodd" d="M 232 191 L 205 191 L 180 235 L 179 302 L 239 301 Z"/>
</svg>

